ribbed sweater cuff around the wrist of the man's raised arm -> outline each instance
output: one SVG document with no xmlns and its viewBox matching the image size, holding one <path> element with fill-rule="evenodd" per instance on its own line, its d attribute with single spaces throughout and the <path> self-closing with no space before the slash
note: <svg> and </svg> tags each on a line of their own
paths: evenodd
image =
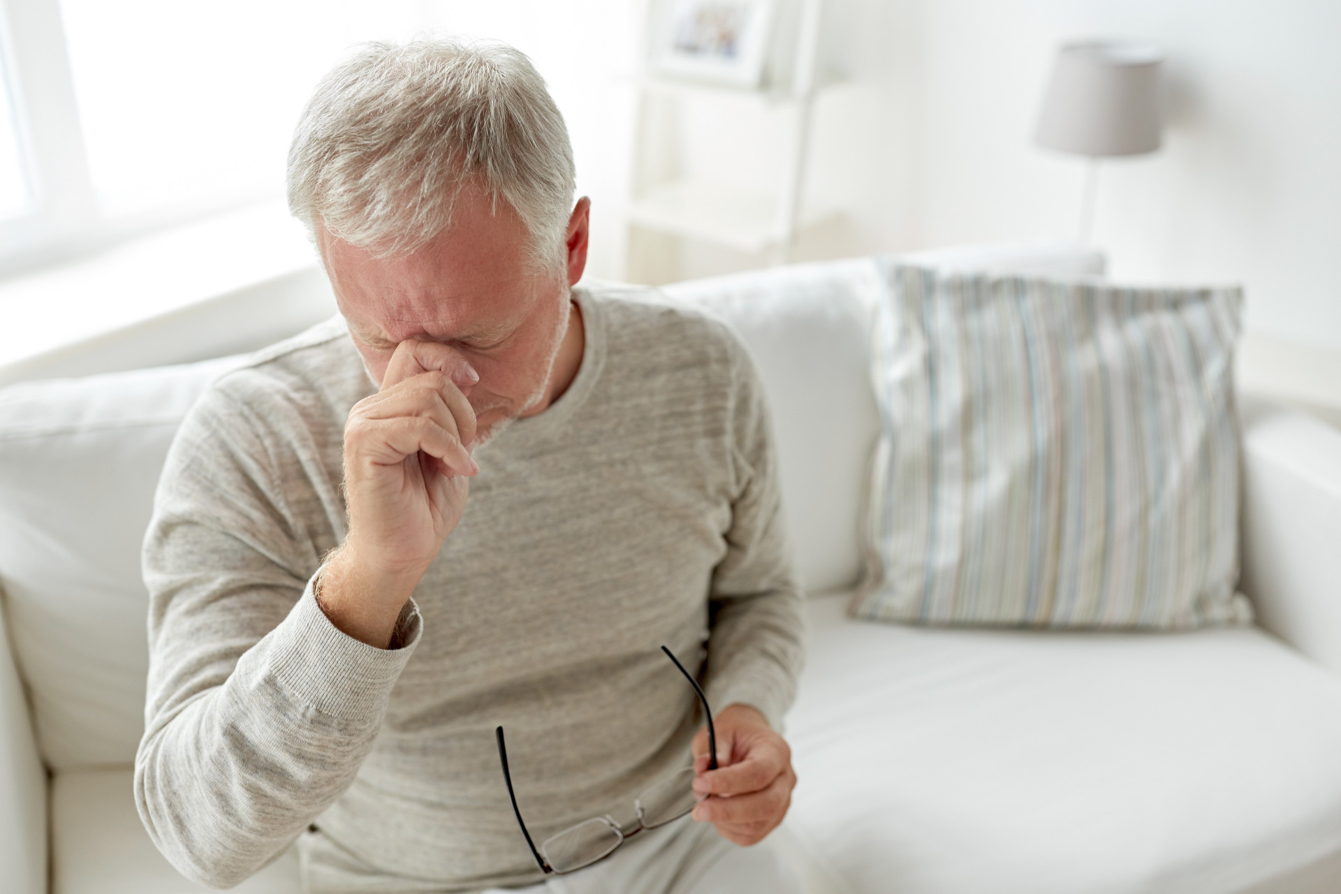
<svg viewBox="0 0 1341 894">
<path fill-rule="evenodd" d="M 378 649 L 331 623 L 307 582 L 303 596 L 274 630 L 271 662 L 275 680 L 298 704 L 350 721 L 382 716 L 392 688 L 414 653 L 424 622 L 410 599 L 396 621 L 392 643 Z"/>
</svg>

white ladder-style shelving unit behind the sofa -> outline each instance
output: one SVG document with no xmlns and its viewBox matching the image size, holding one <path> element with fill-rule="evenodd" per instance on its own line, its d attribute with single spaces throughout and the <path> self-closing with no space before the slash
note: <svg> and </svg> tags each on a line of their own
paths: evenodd
<svg viewBox="0 0 1341 894">
<path fill-rule="evenodd" d="M 822 88 L 815 78 L 821 13 L 822 0 L 799 0 L 799 20 L 789 59 L 790 76 L 774 75 L 774 83 L 766 80 L 758 90 L 642 72 L 638 80 L 634 182 L 628 209 L 630 271 L 640 267 L 640 259 L 634 257 L 638 251 L 634 228 L 715 243 L 740 252 L 768 253 L 774 263 L 780 264 L 789 259 L 802 229 L 835 212 L 807 206 L 802 201 L 814 102 Z M 648 145 L 656 133 L 650 121 L 656 115 L 654 103 L 661 103 L 664 109 L 668 101 L 695 103 L 723 98 L 786 111 L 786 158 L 780 181 L 772 189 L 742 186 L 701 173 L 687 177 L 675 159 L 666 158 L 673 149 Z"/>
</svg>

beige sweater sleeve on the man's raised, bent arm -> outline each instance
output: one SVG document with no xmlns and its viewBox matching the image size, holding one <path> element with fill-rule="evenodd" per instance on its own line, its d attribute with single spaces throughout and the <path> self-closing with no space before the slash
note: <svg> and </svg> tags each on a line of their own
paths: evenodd
<svg viewBox="0 0 1341 894">
<path fill-rule="evenodd" d="M 216 386 L 188 416 L 143 550 L 135 800 L 168 860 L 216 887 L 275 859 L 353 781 L 421 627 L 410 602 L 382 650 L 322 613 L 311 580 L 333 544 L 320 541 L 342 531 L 314 536 L 296 520 L 282 484 L 319 492 L 292 485 L 319 464 L 267 425 L 295 421 L 260 407 Z"/>
</svg>

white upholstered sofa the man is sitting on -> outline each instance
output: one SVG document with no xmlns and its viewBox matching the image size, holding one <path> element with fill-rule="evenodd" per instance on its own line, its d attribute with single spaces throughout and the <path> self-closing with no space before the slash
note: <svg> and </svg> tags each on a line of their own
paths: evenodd
<svg viewBox="0 0 1341 894">
<path fill-rule="evenodd" d="M 921 260 L 1102 265 L 1057 245 Z M 857 576 L 877 429 L 866 371 L 874 264 L 668 291 L 736 326 L 774 406 L 797 562 L 814 594 L 787 721 L 801 781 L 782 835 L 813 891 L 1341 890 L 1341 433 L 1243 402 L 1242 588 L 1262 626 L 1092 634 L 853 622 L 843 590 Z M 229 327 L 196 332 L 197 355 L 267 322 Z M 138 547 L 177 421 L 235 362 L 0 390 L 5 894 L 201 890 L 154 851 L 131 799 L 146 663 Z M 294 856 L 236 890 L 296 891 Z"/>
</svg>

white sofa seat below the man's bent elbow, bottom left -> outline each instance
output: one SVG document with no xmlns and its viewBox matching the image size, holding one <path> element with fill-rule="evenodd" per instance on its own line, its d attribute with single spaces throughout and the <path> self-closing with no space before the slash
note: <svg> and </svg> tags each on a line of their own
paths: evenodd
<svg viewBox="0 0 1341 894">
<path fill-rule="evenodd" d="M 184 878 L 149 840 L 129 767 L 74 769 L 51 780 L 51 894 L 196 894 L 213 889 Z M 237 894 L 298 894 L 290 848 Z"/>
</svg>

